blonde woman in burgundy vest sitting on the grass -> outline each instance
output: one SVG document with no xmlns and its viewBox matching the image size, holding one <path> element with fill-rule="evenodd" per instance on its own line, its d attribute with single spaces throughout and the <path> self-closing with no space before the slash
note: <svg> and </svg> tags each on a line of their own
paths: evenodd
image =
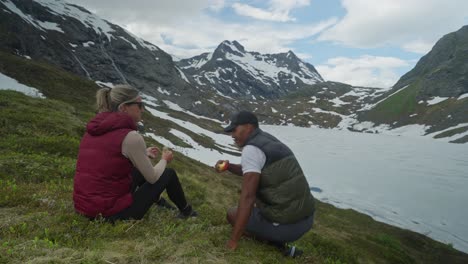
<svg viewBox="0 0 468 264">
<path fill-rule="evenodd" d="M 179 178 L 166 165 L 171 151 L 146 148 L 136 131 L 144 105 L 138 91 L 129 85 L 100 89 L 96 94 L 98 114 L 88 123 L 81 140 L 73 201 L 78 213 L 107 220 L 142 219 L 166 190 L 177 206 L 179 218 L 197 216 L 185 199 Z"/>
</svg>

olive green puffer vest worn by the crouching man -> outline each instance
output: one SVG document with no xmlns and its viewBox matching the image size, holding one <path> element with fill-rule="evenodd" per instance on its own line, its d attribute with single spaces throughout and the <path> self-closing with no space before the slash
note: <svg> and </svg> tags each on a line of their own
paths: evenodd
<svg viewBox="0 0 468 264">
<path fill-rule="evenodd" d="M 312 215 L 314 197 L 294 153 L 259 128 L 246 145 L 258 147 L 266 156 L 256 201 L 262 216 L 271 222 L 291 224 Z"/>
</svg>

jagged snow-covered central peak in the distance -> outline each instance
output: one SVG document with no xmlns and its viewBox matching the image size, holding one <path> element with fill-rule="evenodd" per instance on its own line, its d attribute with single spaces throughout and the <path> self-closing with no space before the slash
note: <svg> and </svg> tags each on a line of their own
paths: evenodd
<svg viewBox="0 0 468 264">
<path fill-rule="evenodd" d="M 177 65 L 191 83 L 238 98 L 277 98 L 323 82 L 309 63 L 292 51 L 249 52 L 237 41 L 223 41 L 212 53 L 183 59 Z"/>
</svg>

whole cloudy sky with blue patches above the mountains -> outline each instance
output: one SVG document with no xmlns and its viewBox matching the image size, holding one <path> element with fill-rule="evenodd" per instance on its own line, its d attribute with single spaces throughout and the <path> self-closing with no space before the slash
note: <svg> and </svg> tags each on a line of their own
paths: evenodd
<svg viewBox="0 0 468 264">
<path fill-rule="evenodd" d="M 179 58 L 223 40 L 292 50 L 326 79 L 391 87 L 443 35 L 468 24 L 467 0 L 67 0 Z"/>
</svg>

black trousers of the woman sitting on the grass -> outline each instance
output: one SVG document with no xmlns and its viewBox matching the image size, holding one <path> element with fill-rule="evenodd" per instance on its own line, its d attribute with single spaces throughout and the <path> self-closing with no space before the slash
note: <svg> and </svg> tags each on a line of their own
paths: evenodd
<svg viewBox="0 0 468 264">
<path fill-rule="evenodd" d="M 132 177 L 133 203 L 119 213 L 108 217 L 108 220 L 113 222 L 115 220 L 142 219 L 151 205 L 159 200 L 164 190 L 167 191 L 169 199 L 179 210 L 187 206 L 184 190 L 182 190 L 179 177 L 177 177 L 174 169 L 165 169 L 161 177 L 154 184 L 147 182 L 137 169 L 132 171 Z"/>
</svg>

